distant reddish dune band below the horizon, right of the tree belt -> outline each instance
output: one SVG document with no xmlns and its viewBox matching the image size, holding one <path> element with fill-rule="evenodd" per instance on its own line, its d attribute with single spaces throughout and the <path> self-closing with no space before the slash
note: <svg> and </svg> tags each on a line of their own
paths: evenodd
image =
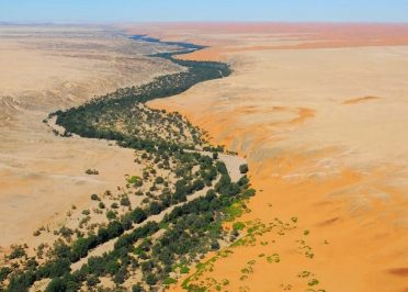
<svg viewBox="0 0 408 292">
<path fill-rule="evenodd" d="M 262 49 L 408 45 L 408 24 L 398 23 L 161 23 L 128 32 L 211 46 L 181 56 L 191 60 L 226 60 L 227 53 Z"/>
</svg>

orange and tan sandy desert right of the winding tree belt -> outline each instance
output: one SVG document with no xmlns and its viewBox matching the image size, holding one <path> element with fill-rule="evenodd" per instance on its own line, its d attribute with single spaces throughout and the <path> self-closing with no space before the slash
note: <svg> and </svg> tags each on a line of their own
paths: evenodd
<svg viewBox="0 0 408 292">
<path fill-rule="evenodd" d="M 193 283 L 408 291 L 407 25 L 145 31 L 212 46 L 188 58 L 231 64 L 231 77 L 149 105 L 186 114 L 248 158 L 258 193 L 239 221 L 293 226 L 265 228 L 230 248 Z"/>
</svg>

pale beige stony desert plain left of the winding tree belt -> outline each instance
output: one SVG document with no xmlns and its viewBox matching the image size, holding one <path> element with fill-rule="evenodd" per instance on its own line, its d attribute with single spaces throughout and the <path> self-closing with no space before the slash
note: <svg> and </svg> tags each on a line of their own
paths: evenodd
<svg viewBox="0 0 408 292">
<path fill-rule="evenodd" d="M 63 138 L 42 121 L 94 96 L 180 68 L 145 57 L 163 47 L 101 26 L 0 26 L 0 254 L 58 226 L 71 205 L 114 190 L 136 169 L 132 150 Z M 169 49 L 169 48 L 166 48 Z M 87 169 L 99 170 L 88 176 Z"/>
</svg>

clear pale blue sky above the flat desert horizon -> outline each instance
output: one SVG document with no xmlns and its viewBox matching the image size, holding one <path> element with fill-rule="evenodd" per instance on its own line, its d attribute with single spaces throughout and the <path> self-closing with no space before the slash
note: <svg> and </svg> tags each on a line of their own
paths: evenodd
<svg viewBox="0 0 408 292">
<path fill-rule="evenodd" d="M 408 22 L 408 0 L 0 0 L 7 22 Z"/>
</svg>

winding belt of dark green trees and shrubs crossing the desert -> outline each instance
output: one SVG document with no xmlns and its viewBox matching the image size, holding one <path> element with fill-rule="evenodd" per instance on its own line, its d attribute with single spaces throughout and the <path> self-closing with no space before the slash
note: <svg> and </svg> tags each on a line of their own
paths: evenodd
<svg viewBox="0 0 408 292">
<path fill-rule="evenodd" d="M 133 38 L 159 42 L 146 36 Z M 101 278 L 111 279 L 115 283 L 114 291 L 155 290 L 158 285 L 177 282 L 180 274 L 188 272 L 189 266 L 238 236 L 239 228 L 226 232 L 222 222 L 239 213 L 231 210 L 237 205 L 245 207 L 243 201 L 254 194 L 245 176 L 248 167 L 241 166 L 241 179 L 233 182 L 225 164 L 218 159 L 218 153 L 224 151 L 222 146 L 209 145 L 204 133 L 180 114 L 145 105 L 146 101 L 181 93 L 199 82 L 226 77 L 230 68 L 223 63 L 177 59 L 175 55 L 203 47 L 167 44 L 182 49 L 152 57 L 169 59 L 185 67 L 185 71 L 158 77 L 140 87 L 120 89 L 78 108 L 52 113 L 44 121 L 56 119 L 56 124 L 64 127 L 64 133 L 54 132 L 57 135 L 115 141 L 122 147 L 135 149 L 137 161 L 155 166 L 144 170 L 143 177 L 128 178 L 127 188 L 121 194 L 121 205 L 127 206 L 128 212 L 117 217 L 112 204 L 112 210 L 106 211 L 107 225 L 88 235 L 81 231 L 66 231 L 67 238 L 73 236 L 75 239 L 56 242 L 49 256 L 41 262 L 27 258 L 24 249 L 14 249 L 9 259 L 25 256 L 25 261 L 0 270 L 2 290 L 27 291 L 42 279 L 50 279 L 46 291 L 78 291 L 84 285 L 94 290 Z M 202 150 L 212 155 L 203 155 Z M 171 173 L 173 181 L 159 176 L 158 170 Z M 98 175 L 97 170 L 88 172 Z M 143 189 L 144 184 L 150 186 L 148 191 Z M 188 200 L 203 190 L 207 190 L 205 195 Z M 132 209 L 127 199 L 132 194 L 145 198 L 143 206 Z M 104 212 L 101 198 L 94 194 L 91 199 L 100 201 L 100 212 Z M 149 220 L 161 212 L 166 215 L 160 222 Z M 89 257 L 86 265 L 71 271 L 73 262 L 114 238 L 117 239 L 113 250 Z"/>
</svg>

